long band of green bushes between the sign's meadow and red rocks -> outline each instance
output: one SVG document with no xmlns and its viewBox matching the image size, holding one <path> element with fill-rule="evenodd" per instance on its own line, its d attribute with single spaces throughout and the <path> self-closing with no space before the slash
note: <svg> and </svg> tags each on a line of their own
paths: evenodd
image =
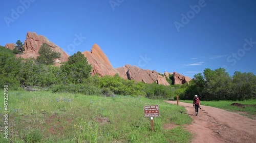
<svg viewBox="0 0 256 143">
<path fill-rule="evenodd" d="M 132 95 L 148 98 L 169 98 L 174 95 L 174 88 L 146 84 L 114 76 L 90 76 L 92 66 L 81 52 L 71 55 L 68 62 L 60 67 L 38 62 L 38 59 L 15 58 L 11 50 L 2 47 L 0 69 L 3 86 L 8 84 L 11 89 L 18 87 L 37 86 L 50 88 L 56 92 L 81 93 L 84 95 Z M 50 54 L 50 53 L 49 53 Z M 42 58 L 43 59 L 43 58 Z M 41 60 L 39 60 L 41 61 Z M 44 61 L 44 60 L 42 60 Z"/>
</svg>

